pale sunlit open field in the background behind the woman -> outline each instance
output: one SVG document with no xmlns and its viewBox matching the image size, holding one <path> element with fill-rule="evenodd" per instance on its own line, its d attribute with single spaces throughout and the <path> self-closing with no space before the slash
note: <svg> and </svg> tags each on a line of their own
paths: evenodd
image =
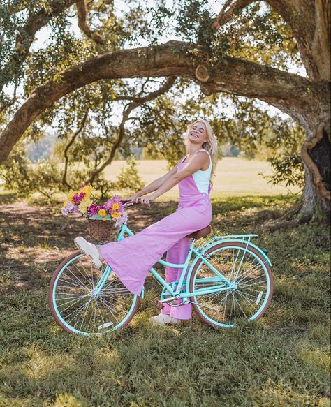
<svg viewBox="0 0 331 407">
<path fill-rule="evenodd" d="M 124 161 L 114 161 L 105 170 L 106 179 L 115 179 L 120 169 L 124 166 Z M 149 184 L 157 177 L 164 175 L 167 170 L 167 162 L 163 160 L 137 161 L 138 172 L 142 180 Z M 224 157 L 216 168 L 214 177 L 214 188 L 211 197 L 217 196 L 238 196 L 238 195 L 279 195 L 288 193 L 284 186 L 272 186 L 263 179 L 261 175 L 272 174 L 270 165 L 265 161 L 249 161 L 244 158 Z M 297 188 L 290 188 L 296 193 Z M 172 188 L 163 195 L 163 198 L 176 198 L 178 188 Z"/>
</svg>

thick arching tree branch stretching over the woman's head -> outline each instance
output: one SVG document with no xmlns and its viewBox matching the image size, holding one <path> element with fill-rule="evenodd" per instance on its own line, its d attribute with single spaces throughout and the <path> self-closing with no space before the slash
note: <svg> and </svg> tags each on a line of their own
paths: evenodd
<svg viewBox="0 0 331 407">
<path fill-rule="evenodd" d="M 0 163 L 38 114 L 66 94 L 102 79 L 181 76 L 196 80 L 199 60 L 196 55 L 192 57 L 192 53 L 196 54 L 188 43 L 169 41 L 163 45 L 108 52 L 57 75 L 56 81 L 50 80 L 34 89 L 0 135 Z M 205 64 L 205 57 L 200 61 Z M 330 97 L 327 84 L 314 84 L 300 75 L 232 57 L 224 57 L 214 66 L 209 80 L 200 82 L 200 87 L 205 94 L 228 92 L 260 98 L 303 125 L 307 120 L 307 104 L 314 105 L 317 96 L 321 100 L 322 93 L 325 105 L 320 109 L 328 109 Z"/>
</svg>

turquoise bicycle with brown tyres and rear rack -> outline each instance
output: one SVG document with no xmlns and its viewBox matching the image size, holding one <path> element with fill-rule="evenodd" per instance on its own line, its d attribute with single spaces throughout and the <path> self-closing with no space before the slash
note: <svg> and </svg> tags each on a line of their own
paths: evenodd
<svg viewBox="0 0 331 407">
<path fill-rule="evenodd" d="M 125 206 L 132 205 L 127 204 Z M 179 281 L 166 283 L 152 267 L 150 272 L 163 290 L 159 304 L 191 303 L 197 315 L 213 327 L 235 327 L 240 320 L 258 320 L 272 299 L 273 276 L 267 250 L 251 242 L 258 235 L 207 237 L 210 226 L 192 233 L 183 264 L 159 260 L 182 268 Z M 133 235 L 124 223 L 117 240 Z M 188 270 L 186 275 L 186 270 Z M 184 276 L 186 275 L 186 280 Z M 138 311 L 140 298 L 126 289 L 112 269 L 97 269 L 80 251 L 64 259 L 50 281 L 48 302 L 52 315 L 67 332 L 91 335 L 124 328 Z"/>
</svg>

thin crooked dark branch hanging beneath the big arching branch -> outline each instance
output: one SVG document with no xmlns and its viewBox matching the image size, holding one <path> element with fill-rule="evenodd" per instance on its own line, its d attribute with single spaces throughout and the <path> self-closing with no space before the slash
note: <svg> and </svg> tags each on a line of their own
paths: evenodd
<svg viewBox="0 0 331 407">
<path fill-rule="evenodd" d="M 150 94 L 142 97 L 135 97 L 134 101 L 131 103 L 128 103 L 126 107 L 123 110 L 123 116 L 122 116 L 122 121 L 121 124 L 119 125 L 119 136 L 115 143 L 112 145 L 112 149 L 110 151 L 110 155 L 108 156 L 107 160 L 99 167 L 94 170 L 94 172 L 91 174 L 91 177 L 87 181 L 87 184 L 92 184 L 94 182 L 94 179 L 96 179 L 96 176 L 102 172 L 107 165 L 110 165 L 112 163 L 112 160 L 115 156 L 115 152 L 118 149 L 118 147 L 121 145 L 121 142 L 124 138 L 125 135 L 125 123 L 128 120 L 128 117 L 132 110 L 138 108 L 139 106 L 143 105 L 144 103 L 147 103 L 149 101 L 152 101 L 153 99 L 157 98 L 161 94 L 164 94 L 167 92 L 172 85 L 175 83 L 176 77 L 168 77 L 168 79 L 164 82 L 164 84 L 161 86 L 160 89 L 151 92 Z M 145 84 L 142 85 L 142 88 L 144 87 Z M 115 99 L 116 100 L 116 99 Z M 119 99 L 118 99 L 119 100 Z"/>
</svg>

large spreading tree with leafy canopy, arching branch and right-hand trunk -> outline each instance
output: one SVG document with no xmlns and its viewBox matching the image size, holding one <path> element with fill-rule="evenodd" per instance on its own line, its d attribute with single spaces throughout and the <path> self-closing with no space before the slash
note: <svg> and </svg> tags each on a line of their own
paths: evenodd
<svg viewBox="0 0 331 407">
<path fill-rule="evenodd" d="M 306 133 L 301 219 L 321 209 L 327 213 L 330 1 L 227 0 L 213 8 L 207 0 L 137 0 L 121 10 L 123 5 L 105 0 L 1 3 L 0 161 L 24 138 L 41 137 L 45 126 L 56 126 L 59 136 L 68 138 L 83 122 L 94 140 L 96 135 L 109 139 L 108 163 L 119 145 L 128 151 L 132 138 L 165 146 L 168 136 L 170 158 L 176 157 L 182 152 L 179 133 L 197 115 L 210 119 L 216 134 L 227 133 L 229 140 L 232 126 L 242 130 L 238 144 L 257 146 L 268 132 L 256 131 L 259 124 L 249 120 L 251 112 L 265 117 L 262 123 L 271 129 L 280 122 L 265 115 L 267 103 Z M 80 31 L 73 29 L 76 21 Z M 50 38 L 32 50 L 43 27 Z M 186 102 L 184 92 L 191 94 Z M 237 119 L 225 117 L 224 101 L 236 107 Z M 118 106 L 122 118 L 115 126 Z M 132 123 L 130 131 L 126 121 Z M 282 138 L 300 140 L 288 121 L 281 128 L 286 129 Z M 86 138 L 88 131 L 81 133 Z M 292 159 L 297 155 L 293 142 L 288 152 L 289 165 L 300 163 L 297 156 Z M 107 160 L 94 172 L 103 165 Z"/>
</svg>

